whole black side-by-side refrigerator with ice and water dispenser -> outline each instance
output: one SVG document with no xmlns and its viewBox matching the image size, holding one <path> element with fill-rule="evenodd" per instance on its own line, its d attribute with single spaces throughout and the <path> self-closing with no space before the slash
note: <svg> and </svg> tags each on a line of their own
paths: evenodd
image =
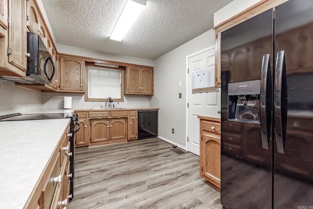
<svg viewBox="0 0 313 209">
<path fill-rule="evenodd" d="M 222 32 L 221 204 L 313 209 L 313 0 Z"/>
</svg>

